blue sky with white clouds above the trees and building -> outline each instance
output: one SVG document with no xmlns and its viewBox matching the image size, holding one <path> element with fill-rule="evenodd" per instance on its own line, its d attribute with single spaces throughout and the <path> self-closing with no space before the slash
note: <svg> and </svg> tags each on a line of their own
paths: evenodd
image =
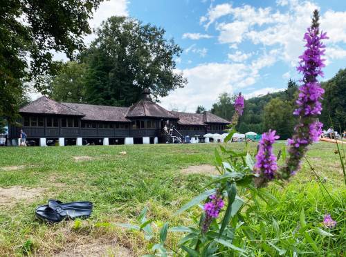
<svg viewBox="0 0 346 257">
<path fill-rule="evenodd" d="M 290 78 L 298 81 L 295 67 L 315 9 L 329 36 L 326 80 L 346 68 L 345 0 L 110 0 L 101 3 L 90 25 L 126 15 L 165 28 L 165 37 L 183 48 L 175 71 L 188 84 L 161 98 L 161 106 L 194 112 L 199 105 L 210 109 L 224 92 L 248 98 L 282 91 Z M 87 36 L 86 44 L 94 37 Z"/>
</svg>

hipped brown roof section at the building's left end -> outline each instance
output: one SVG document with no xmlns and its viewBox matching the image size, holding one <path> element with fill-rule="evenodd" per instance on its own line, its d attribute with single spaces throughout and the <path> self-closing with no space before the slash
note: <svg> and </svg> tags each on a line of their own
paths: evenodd
<svg viewBox="0 0 346 257">
<path fill-rule="evenodd" d="M 55 115 L 76 115 L 83 116 L 83 113 L 69 108 L 64 104 L 55 102 L 48 97 L 39 97 L 39 99 L 30 102 L 30 104 L 19 109 L 19 113 L 42 113 L 42 114 L 55 114 Z"/>
</svg>

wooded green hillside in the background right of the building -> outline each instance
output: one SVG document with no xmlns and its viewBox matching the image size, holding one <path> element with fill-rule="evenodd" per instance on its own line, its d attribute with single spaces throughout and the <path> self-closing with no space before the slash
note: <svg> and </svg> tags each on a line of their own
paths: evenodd
<svg viewBox="0 0 346 257">
<path fill-rule="evenodd" d="M 322 82 L 321 86 L 325 89 L 320 118 L 325 124 L 324 129 L 334 126 L 337 131 L 343 131 L 346 123 L 346 69 L 339 70 L 333 78 Z M 237 130 L 240 133 L 263 133 L 271 128 L 275 129 L 283 140 L 291 137 L 295 124 L 291 113 L 295 108 L 297 95 L 298 85 L 290 79 L 285 91 L 246 99 L 244 114 L 239 119 Z M 236 95 L 222 93 L 210 111 L 230 120 L 235 111 L 235 97 Z"/>
</svg>

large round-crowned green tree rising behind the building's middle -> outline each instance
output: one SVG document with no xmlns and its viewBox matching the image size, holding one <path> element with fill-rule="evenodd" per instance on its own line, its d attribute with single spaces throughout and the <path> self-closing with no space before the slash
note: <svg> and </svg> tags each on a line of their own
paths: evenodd
<svg viewBox="0 0 346 257">
<path fill-rule="evenodd" d="M 96 39 L 82 55 L 88 66 L 86 102 L 129 106 L 144 88 L 165 97 L 186 84 L 176 73 L 174 57 L 182 50 L 165 30 L 136 19 L 111 17 L 96 30 Z"/>
</svg>

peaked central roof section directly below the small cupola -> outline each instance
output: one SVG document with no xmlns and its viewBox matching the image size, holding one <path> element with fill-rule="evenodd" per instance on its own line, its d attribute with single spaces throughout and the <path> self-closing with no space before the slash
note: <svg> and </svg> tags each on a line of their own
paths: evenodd
<svg viewBox="0 0 346 257">
<path fill-rule="evenodd" d="M 167 111 L 149 99 L 141 99 L 136 104 L 129 107 L 126 117 L 163 117 L 168 119 L 177 119 L 176 115 Z"/>
</svg>

